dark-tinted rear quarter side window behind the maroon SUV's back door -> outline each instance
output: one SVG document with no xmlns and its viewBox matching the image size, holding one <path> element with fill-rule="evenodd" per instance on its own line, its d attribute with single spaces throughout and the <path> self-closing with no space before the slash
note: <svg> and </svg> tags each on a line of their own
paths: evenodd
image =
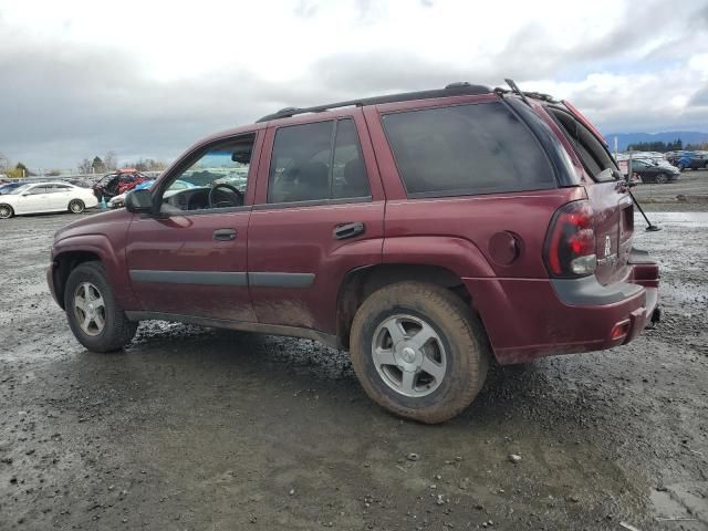
<svg viewBox="0 0 708 531">
<path fill-rule="evenodd" d="M 501 103 L 384 115 L 409 196 L 454 196 L 555 187 L 533 134 Z"/>
</svg>

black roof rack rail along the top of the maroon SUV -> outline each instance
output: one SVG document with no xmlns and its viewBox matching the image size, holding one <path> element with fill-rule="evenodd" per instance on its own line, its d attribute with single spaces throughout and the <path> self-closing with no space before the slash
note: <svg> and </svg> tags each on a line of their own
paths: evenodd
<svg viewBox="0 0 708 531">
<path fill-rule="evenodd" d="M 270 119 L 290 118 L 296 114 L 322 113 L 332 108 L 341 107 L 363 107 L 364 105 L 379 105 L 384 103 L 407 102 L 410 100 L 429 100 L 431 97 L 468 96 L 478 94 L 490 94 L 492 91 L 485 85 L 471 85 L 466 81 L 450 83 L 445 88 L 420 92 L 404 92 L 400 94 L 388 94 L 385 96 L 364 97 L 362 100 L 348 100 L 346 102 L 330 103 L 327 105 L 316 105 L 314 107 L 285 107 L 277 113 L 269 114 L 258 119 L 268 122 Z"/>
</svg>

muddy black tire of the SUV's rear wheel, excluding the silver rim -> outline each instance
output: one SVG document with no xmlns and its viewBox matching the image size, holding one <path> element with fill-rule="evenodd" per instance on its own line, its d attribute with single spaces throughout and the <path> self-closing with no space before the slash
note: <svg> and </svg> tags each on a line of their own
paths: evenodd
<svg viewBox="0 0 708 531">
<path fill-rule="evenodd" d="M 425 396 L 405 396 L 392 388 L 374 361 L 376 331 L 398 315 L 423 320 L 446 351 L 441 382 Z M 455 417 L 472 403 L 487 377 L 490 348 L 481 322 L 461 299 L 435 284 L 400 282 L 373 293 L 354 316 L 350 343 L 352 364 L 366 394 L 389 412 L 421 423 Z"/>
</svg>

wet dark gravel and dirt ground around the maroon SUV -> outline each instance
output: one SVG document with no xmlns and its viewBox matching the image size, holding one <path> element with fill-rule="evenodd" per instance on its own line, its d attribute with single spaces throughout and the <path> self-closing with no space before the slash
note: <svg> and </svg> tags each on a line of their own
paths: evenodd
<svg viewBox="0 0 708 531">
<path fill-rule="evenodd" d="M 439 426 L 306 340 L 149 322 L 86 352 L 44 281 L 74 218 L 2 221 L 0 530 L 708 530 L 708 212 L 660 207 L 660 232 L 636 221 L 655 330 L 496 368 Z"/>
</svg>

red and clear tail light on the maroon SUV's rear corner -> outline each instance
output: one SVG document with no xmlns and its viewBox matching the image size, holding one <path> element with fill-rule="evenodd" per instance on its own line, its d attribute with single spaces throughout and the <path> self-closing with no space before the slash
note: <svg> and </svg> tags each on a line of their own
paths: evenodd
<svg viewBox="0 0 708 531">
<path fill-rule="evenodd" d="M 545 237 L 545 264 L 552 277 L 592 274 L 597 267 L 593 209 L 587 201 L 563 205 Z"/>
</svg>

